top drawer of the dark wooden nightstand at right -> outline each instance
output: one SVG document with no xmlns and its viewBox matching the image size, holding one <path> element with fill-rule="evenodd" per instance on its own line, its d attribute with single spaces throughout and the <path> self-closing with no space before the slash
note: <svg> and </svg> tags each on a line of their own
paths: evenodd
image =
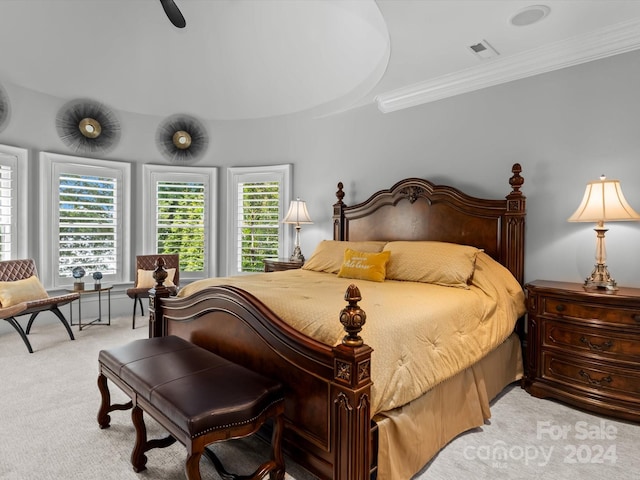
<svg viewBox="0 0 640 480">
<path fill-rule="evenodd" d="M 553 297 L 544 299 L 542 310 L 545 315 L 599 320 L 612 325 L 640 327 L 640 313 L 638 310 L 590 305 L 586 302 L 573 303 Z"/>
</svg>

